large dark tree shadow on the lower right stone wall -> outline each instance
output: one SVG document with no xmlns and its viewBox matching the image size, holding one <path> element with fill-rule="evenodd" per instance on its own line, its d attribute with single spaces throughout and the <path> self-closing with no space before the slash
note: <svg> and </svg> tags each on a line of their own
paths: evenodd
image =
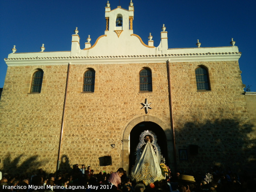
<svg viewBox="0 0 256 192">
<path fill-rule="evenodd" d="M 177 154 L 178 169 L 207 171 L 217 165 L 229 166 L 236 172 L 256 172 L 256 140 L 252 136 L 252 127 L 252 124 L 235 118 L 186 123 L 175 132 L 177 153 L 179 149 L 188 151 L 188 160 L 179 160 Z"/>
</svg>

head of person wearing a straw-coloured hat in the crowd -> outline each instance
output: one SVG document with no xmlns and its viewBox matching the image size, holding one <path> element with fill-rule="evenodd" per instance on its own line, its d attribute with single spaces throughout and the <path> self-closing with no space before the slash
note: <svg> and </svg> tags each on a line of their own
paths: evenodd
<svg viewBox="0 0 256 192">
<path fill-rule="evenodd" d="M 196 188 L 196 181 L 193 176 L 179 175 L 178 189 L 180 192 L 191 192 Z"/>
</svg>

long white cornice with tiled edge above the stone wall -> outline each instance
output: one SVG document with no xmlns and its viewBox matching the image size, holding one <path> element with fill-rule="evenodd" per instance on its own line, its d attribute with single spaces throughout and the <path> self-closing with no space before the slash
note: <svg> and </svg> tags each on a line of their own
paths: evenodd
<svg viewBox="0 0 256 192">
<path fill-rule="evenodd" d="M 61 65 L 68 64 L 121 64 L 121 63 L 162 63 L 194 61 L 237 61 L 240 52 L 229 53 L 196 53 L 196 54 L 162 54 L 162 55 L 128 55 L 128 56 L 94 56 L 94 57 L 38 57 L 8 58 L 7 66 L 21 65 Z"/>
</svg>

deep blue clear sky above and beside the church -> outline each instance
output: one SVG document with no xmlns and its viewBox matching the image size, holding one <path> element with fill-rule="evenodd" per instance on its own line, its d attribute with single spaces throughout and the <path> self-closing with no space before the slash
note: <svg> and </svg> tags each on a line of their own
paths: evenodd
<svg viewBox="0 0 256 192">
<path fill-rule="evenodd" d="M 168 31 L 169 48 L 231 46 L 236 41 L 242 81 L 256 92 L 256 1 L 246 0 L 133 0 L 133 33 L 147 44 L 160 43 L 161 27 Z M 17 52 L 70 51 L 71 35 L 77 27 L 81 49 L 90 35 L 104 35 L 105 0 L 12 0 L 0 1 L 0 87 L 4 86 L 7 65 L 4 58 L 16 45 Z M 119 0 L 109 0 L 111 9 Z M 120 0 L 128 9 L 130 0 Z M 21 77 L 22 78 L 22 77 Z"/>
</svg>

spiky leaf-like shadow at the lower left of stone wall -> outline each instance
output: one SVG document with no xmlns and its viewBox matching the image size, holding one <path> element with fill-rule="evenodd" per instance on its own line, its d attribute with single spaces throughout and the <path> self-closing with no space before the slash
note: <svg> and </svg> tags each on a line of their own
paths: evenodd
<svg viewBox="0 0 256 192">
<path fill-rule="evenodd" d="M 23 156 L 20 155 L 15 159 L 11 160 L 11 154 L 8 153 L 7 158 L 3 160 L 3 170 L 2 173 L 26 173 L 31 172 L 33 168 L 36 168 L 42 162 L 37 161 L 38 156 L 31 156 L 26 159 L 22 164 L 20 164 L 20 158 Z"/>
</svg>

